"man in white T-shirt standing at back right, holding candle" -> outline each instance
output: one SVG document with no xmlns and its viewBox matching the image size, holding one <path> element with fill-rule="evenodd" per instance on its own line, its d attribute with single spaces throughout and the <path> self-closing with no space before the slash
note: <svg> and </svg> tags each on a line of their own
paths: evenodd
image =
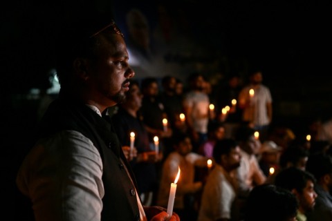
<svg viewBox="0 0 332 221">
<path fill-rule="evenodd" d="M 272 122 L 273 100 L 270 89 L 262 84 L 263 75 L 260 70 L 250 73 L 249 80 L 250 83 L 239 93 L 239 108 L 243 110 L 243 122 L 248 122 L 259 131 L 259 137 L 264 142 Z"/>
</svg>

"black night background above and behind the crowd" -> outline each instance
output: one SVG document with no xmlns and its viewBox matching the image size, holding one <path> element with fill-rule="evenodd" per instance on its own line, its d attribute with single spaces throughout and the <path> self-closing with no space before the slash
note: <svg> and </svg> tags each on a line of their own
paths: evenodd
<svg viewBox="0 0 332 221">
<path fill-rule="evenodd" d="M 127 8 L 147 12 L 158 23 L 163 5 L 175 25 L 185 15 L 185 37 L 193 41 L 186 70 L 246 75 L 264 70 L 276 121 L 301 130 L 313 115 L 331 116 L 331 6 L 329 1 L 6 1 L 1 6 L 1 166 L 12 193 L 17 166 L 35 126 L 35 104 L 27 95 L 42 88 L 54 65 L 53 42 L 62 24 L 91 11 L 109 12 L 120 28 Z M 181 52 L 179 52 L 181 55 Z M 198 56 L 199 55 L 199 56 Z M 180 56 L 181 57 L 181 56 Z M 188 58 L 189 57 L 189 58 Z M 181 64 L 183 65 L 183 64 Z M 211 68 L 213 67 L 213 68 Z M 159 73 L 156 73 L 158 76 Z M 161 74 L 161 73 L 160 73 Z M 187 73 L 177 73 L 186 75 Z M 5 194 L 6 195 L 6 194 Z M 15 200 L 8 201 L 12 209 Z"/>
</svg>

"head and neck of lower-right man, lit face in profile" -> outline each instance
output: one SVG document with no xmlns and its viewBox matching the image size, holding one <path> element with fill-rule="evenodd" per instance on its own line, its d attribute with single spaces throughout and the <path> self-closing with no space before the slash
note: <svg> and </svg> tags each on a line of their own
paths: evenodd
<svg viewBox="0 0 332 221">
<path fill-rule="evenodd" d="M 290 167 L 275 177 L 275 185 L 291 191 L 299 202 L 296 220 L 305 221 L 306 213 L 313 211 L 317 193 L 314 190 L 315 177 L 301 169 Z"/>
</svg>

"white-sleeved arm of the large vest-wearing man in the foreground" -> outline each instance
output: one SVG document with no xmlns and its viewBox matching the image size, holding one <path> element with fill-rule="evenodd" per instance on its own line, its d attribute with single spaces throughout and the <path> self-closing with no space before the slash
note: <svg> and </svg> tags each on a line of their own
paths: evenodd
<svg viewBox="0 0 332 221">
<path fill-rule="evenodd" d="M 77 131 L 62 131 L 35 146 L 21 165 L 17 186 L 32 200 L 37 221 L 100 221 L 102 160 Z"/>
</svg>

